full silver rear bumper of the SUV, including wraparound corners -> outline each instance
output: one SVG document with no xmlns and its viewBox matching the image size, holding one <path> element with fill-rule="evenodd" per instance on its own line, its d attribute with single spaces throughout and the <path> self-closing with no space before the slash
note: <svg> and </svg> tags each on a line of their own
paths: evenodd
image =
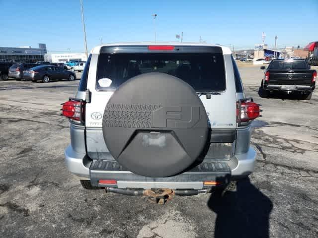
<svg viewBox="0 0 318 238">
<path fill-rule="evenodd" d="M 239 179 L 248 176 L 254 171 L 255 159 L 256 151 L 253 147 L 249 147 L 247 153 L 235 155 L 229 161 L 204 161 L 200 165 L 201 170 L 200 168 L 198 170 L 197 167 L 195 167 L 193 170 L 177 176 L 149 178 L 133 174 L 130 171 L 125 171 L 125 169 L 120 168 L 121 166 L 118 165 L 116 161 L 94 160 L 92 163 L 88 160 L 85 153 L 78 153 L 74 151 L 71 145 L 69 145 L 65 150 L 65 162 L 71 173 L 80 178 L 90 179 L 91 183 L 95 186 L 106 186 L 98 183 L 100 179 L 114 179 L 117 181 L 117 184 L 115 185 L 117 188 L 148 189 L 164 187 L 170 189 L 203 189 L 203 181 L 206 180 L 227 183 L 231 178 Z M 97 162 L 98 165 L 96 165 Z M 109 165 L 105 167 L 107 162 L 111 164 L 110 167 Z M 214 165 L 212 165 L 212 163 L 214 163 Z M 100 168 L 104 167 L 110 169 L 97 170 L 96 168 L 98 168 L 99 164 Z M 222 168 L 217 171 L 211 170 L 211 165 L 216 167 L 216 164 L 221 164 Z M 204 167 L 209 168 L 209 170 L 204 170 Z"/>
</svg>

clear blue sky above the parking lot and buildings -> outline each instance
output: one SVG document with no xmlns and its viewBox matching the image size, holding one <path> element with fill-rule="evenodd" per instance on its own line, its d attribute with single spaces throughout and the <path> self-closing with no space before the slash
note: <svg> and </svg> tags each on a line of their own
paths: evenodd
<svg viewBox="0 0 318 238">
<path fill-rule="evenodd" d="M 252 48 L 318 41 L 318 0 L 83 0 L 88 51 L 100 43 L 154 40 Z M 79 0 L 0 0 L 0 46 L 46 43 L 49 51 L 83 52 Z"/>
</svg>

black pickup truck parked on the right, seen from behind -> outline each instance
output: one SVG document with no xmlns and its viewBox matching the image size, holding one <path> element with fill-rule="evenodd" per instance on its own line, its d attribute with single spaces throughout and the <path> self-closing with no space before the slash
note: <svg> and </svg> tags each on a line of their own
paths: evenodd
<svg viewBox="0 0 318 238">
<path fill-rule="evenodd" d="M 265 69 L 265 66 L 261 66 Z M 310 69 L 307 60 L 272 60 L 264 71 L 260 96 L 269 97 L 272 92 L 298 93 L 302 99 L 310 100 L 315 89 L 317 71 Z"/>
</svg>

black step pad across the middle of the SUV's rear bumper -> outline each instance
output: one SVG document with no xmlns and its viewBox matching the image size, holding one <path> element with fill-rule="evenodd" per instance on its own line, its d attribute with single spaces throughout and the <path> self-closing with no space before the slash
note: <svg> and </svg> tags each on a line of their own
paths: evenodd
<svg viewBox="0 0 318 238">
<path fill-rule="evenodd" d="M 226 162 L 204 161 L 196 167 L 175 176 L 152 178 L 134 174 L 117 161 L 93 160 L 89 174 L 93 186 L 98 186 L 99 180 L 107 179 L 154 182 L 202 182 L 211 180 L 226 184 L 231 179 L 231 168 Z"/>
</svg>

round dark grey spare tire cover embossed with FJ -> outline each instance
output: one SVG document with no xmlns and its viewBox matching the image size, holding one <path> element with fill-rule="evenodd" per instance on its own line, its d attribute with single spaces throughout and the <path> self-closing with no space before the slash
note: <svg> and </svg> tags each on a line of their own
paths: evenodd
<svg viewBox="0 0 318 238">
<path fill-rule="evenodd" d="M 194 89 L 164 73 L 123 83 L 109 99 L 103 136 L 124 168 L 146 177 L 168 177 L 189 167 L 208 136 L 205 108 Z"/>
</svg>

